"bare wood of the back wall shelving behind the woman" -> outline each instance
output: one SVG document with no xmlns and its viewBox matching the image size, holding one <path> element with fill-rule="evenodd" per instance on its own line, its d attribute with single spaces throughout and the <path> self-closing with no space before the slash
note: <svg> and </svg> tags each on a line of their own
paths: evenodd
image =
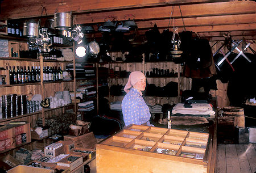
<svg viewBox="0 0 256 173">
<path fill-rule="evenodd" d="M 189 90 L 191 89 L 192 79 L 181 76 L 183 69 L 180 64 L 175 64 L 175 62 L 171 61 L 157 61 L 157 62 L 110 62 L 109 64 L 105 64 L 104 66 L 109 67 L 109 69 L 114 69 L 114 67 L 120 67 L 121 71 L 143 71 L 146 75 L 146 71 L 151 71 L 152 68 L 158 69 L 170 69 L 174 70 L 175 75 L 170 77 L 146 77 L 148 84 L 155 84 L 156 86 L 166 86 L 168 82 L 177 82 L 177 97 L 166 97 L 166 96 L 151 96 L 144 95 L 144 98 L 147 102 L 148 99 L 155 99 L 155 103 L 164 104 L 164 103 L 179 103 L 180 102 L 180 91 L 181 90 Z M 124 86 L 128 81 L 128 77 L 113 77 L 109 78 L 109 87 L 112 85 L 122 85 Z M 114 96 L 110 95 L 110 102 L 113 101 L 122 101 L 123 96 Z"/>
</svg>

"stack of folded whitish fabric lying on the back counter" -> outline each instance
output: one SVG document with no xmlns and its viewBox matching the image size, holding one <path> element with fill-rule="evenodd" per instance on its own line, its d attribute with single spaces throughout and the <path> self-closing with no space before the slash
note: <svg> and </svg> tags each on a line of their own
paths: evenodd
<svg viewBox="0 0 256 173">
<path fill-rule="evenodd" d="M 172 114 L 191 114 L 191 115 L 215 115 L 212 106 L 208 103 L 192 103 L 191 107 L 185 107 L 184 103 L 178 103 L 172 109 Z"/>
</svg>

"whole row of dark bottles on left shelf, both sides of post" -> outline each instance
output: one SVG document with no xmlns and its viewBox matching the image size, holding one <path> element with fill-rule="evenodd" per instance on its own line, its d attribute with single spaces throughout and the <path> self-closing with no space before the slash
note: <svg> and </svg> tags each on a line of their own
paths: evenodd
<svg viewBox="0 0 256 173">
<path fill-rule="evenodd" d="M 8 66 L 6 66 L 6 70 L 8 70 Z M 10 73 L 10 84 L 20 84 L 20 83 L 33 83 L 40 82 L 40 66 L 32 66 L 30 71 L 30 66 L 13 66 L 13 70 L 11 70 L 11 66 L 9 67 Z M 44 67 L 43 70 L 43 79 L 44 81 L 62 81 L 63 80 L 63 71 L 61 67 Z"/>
</svg>

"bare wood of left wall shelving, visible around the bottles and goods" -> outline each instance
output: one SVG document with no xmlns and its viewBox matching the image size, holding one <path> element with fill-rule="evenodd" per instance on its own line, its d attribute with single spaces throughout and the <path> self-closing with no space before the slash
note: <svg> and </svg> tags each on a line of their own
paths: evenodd
<svg viewBox="0 0 256 173">
<path fill-rule="evenodd" d="M 20 37 L 11 37 L 11 36 L 0 36 L 0 39 L 6 39 L 9 40 L 10 43 L 16 43 L 15 41 L 19 41 L 20 43 L 26 43 L 27 39 L 20 38 Z M 27 44 L 27 43 L 26 43 Z M 56 47 L 63 47 L 63 45 L 56 44 L 54 45 Z M 66 47 L 65 47 L 66 48 Z M 72 48 L 72 47 L 68 47 Z M 10 49 L 10 48 L 9 48 Z M 1 95 L 9 95 L 9 94 L 17 94 L 17 95 L 27 95 L 28 100 L 32 98 L 35 94 L 42 95 L 42 99 L 48 98 L 49 96 L 54 96 L 56 91 L 63 91 L 63 90 L 69 90 L 69 91 L 75 91 L 76 93 L 76 78 L 74 78 L 71 81 L 51 81 L 46 82 L 43 81 L 43 67 L 44 66 L 61 66 L 61 69 L 65 69 L 65 64 L 74 62 L 75 63 L 75 56 L 73 56 L 73 61 L 57 61 L 57 60 L 44 60 L 43 56 L 40 54 L 38 59 L 32 59 L 32 58 L 18 58 L 18 57 L 0 57 L 0 66 L 6 67 L 6 66 L 40 66 L 40 82 L 34 82 L 34 83 L 23 83 L 23 84 L 14 84 L 14 85 L 1 85 L 0 86 L 0 93 Z M 75 71 L 74 71 L 75 73 Z M 73 85 L 72 85 L 73 84 Z M 40 104 L 40 103 L 39 103 Z M 60 106 L 56 108 L 42 108 L 42 110 L 33 112 L 33 113 L 27 113 L 24 115 L 14 116 L 7 119 L 0 119 L 1 125 L 9 124 L 10 121 L 27 121 L 28 124 L 31 126 L 36 125 L 36 120 L 39 118 L 42 118 L 42 123 L 45 125 L 45 119 L 47 116 L 54 113 L 61 113 L 64 112 L 66 108 L 73 108 L 74 112 L 76 113 L 76 103 L 71 103 L 65 106 Z M 46 115 L 47 114 L 47 115 Z M 30 140 L 31 141 L 31 140 Z M 45 142 L 45 140 L 44 140 Z M 26 142 L 28 144 L 29 142 Z M 17 147 L 26 145 L 17 145 Z M 13 147 L 10 150 L 15 149 L 16 147 Z M 7 151 L 7 150 L 6 150 Z M 4 153 L 6 151 L 2 151 L 1 153 Z"/>
</svg>

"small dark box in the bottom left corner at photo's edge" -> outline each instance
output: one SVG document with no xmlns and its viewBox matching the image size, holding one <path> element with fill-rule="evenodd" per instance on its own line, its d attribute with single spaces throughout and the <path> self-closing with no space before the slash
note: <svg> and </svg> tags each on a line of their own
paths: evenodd
<svg viewBox="0 0 256 173">
<path fill-rule="evenodd" d="M 0 165 L 4 170 L 10 170 L 11 168 L 21 164 L 17 159 L 15 159 L 10 154 L 0 157 Z"/>
</svg>

